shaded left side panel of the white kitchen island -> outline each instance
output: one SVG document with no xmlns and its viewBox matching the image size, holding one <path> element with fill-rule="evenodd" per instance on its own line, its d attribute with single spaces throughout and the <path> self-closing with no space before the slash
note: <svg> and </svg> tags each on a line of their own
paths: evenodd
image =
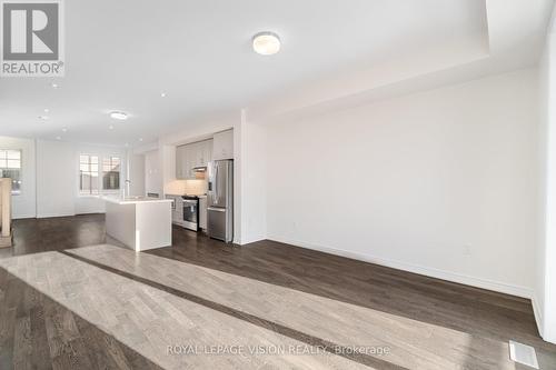
<svg viewBox="0 0 556 370">
<path fill-rule="evenodd" d="M 136 248 L 136 204 L 106 202 L 106 232 L 127 247 Z"/>
</svg>

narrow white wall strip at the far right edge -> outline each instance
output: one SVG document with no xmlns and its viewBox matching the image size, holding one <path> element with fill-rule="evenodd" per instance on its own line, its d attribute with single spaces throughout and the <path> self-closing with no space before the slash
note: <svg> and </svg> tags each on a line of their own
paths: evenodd
<svg viewBox="0 0 556 370">
<path fill-rule="evenodd" d="M 539 66 L 542 164 L 535 314 L 539 331 L 556 342 L 556 34 L 549 33 Z"/>
</svg>

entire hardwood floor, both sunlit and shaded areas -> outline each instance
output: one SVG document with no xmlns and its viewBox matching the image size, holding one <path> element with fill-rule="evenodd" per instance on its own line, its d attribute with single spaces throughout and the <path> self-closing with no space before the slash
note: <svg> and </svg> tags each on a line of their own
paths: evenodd
<svg viewBox="0 0 556 370">
<path fill-rule="evenodd" d="M 179 228 L 172 247 L 136 254 L 103 222 L 14 222 L 0 251 L 1 369 L 526 369 L 509 339 L 556 369 L 525 299 Z"/>
</svg>

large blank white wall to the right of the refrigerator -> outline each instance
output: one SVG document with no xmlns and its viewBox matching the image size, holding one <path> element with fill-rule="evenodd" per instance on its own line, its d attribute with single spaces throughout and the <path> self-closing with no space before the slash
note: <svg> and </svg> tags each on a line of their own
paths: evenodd
<svg viewBox="0 0 556 370">
<path fill-rule="evenodd" d="M 268 126 L 269 239 L 530 297 L 536 73 Z"/>
</svg>

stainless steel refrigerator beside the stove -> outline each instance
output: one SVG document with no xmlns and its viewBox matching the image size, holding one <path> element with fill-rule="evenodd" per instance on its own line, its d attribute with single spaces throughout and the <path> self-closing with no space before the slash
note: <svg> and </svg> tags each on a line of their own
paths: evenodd
<svg viewBox="0 0 556 370">
<path fill-rule="evenodd" d="M 207 196 L 207 232 L 210 238 L 234 240 L 234 161 L 209 163 Z"/>
</svg>

